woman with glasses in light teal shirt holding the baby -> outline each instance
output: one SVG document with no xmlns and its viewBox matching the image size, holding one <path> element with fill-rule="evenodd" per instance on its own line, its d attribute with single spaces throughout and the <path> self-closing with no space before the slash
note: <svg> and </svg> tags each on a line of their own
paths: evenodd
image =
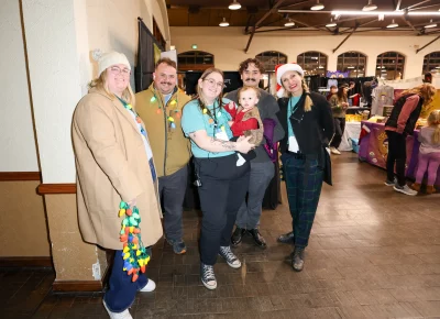
<svg viewBox="0 0 440 319">
<path fill-rule="evenodd" d="M 237 212 L 246 193 L 250 164 L 237 166 L 235 152 L 254 148 L 249 138 L 230 142 L 231 120 L 223 99 L 224 76 L 217 68 L 205 70 L 198 80 L 198 96 L 184 107 L 182 128 L 191 141 L 202 211 L 200 234 L 200 276 L 208 289 L 216 289 L 213 265 L 217 255 L 229 266 L 240 268 L 241 262 L 232 253 L 230 243 Z"/>
</svg>

